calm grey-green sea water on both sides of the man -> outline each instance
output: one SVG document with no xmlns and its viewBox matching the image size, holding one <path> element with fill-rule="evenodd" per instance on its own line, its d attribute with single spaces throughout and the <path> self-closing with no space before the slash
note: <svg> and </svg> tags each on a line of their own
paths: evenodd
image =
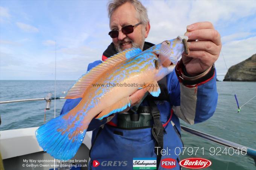
<svg viewBox="0 0 256 170">
<path fill-rule="evenodd" d="M 63 92 L 67 92 L 73 83 L 75 81 L 56 81 L 56 96 L 65 96 Z M 256 95 L 255 82 L 233 82 L 233 86 L 240 105 Z M 181 122 L 181 124 L 256 149 L 256 98 L 242 107 L 238 114 L 231 83 L 217 82 L 217 87 L 219 93 L 218 106 L 213 117 L 197 125 L 187 125 L 184 122 Z M 0 101 L 44 98 L 50 92 L 54 96 L 54 81 L 0 81 Z M 56 115 L 59 115 L 64 101 L 64 99 L 56 100 Z M 0 104 L 2 119 L 0 131 L 43 125 L 45 105 L 45 101 Z M 52 108 L 46 111 L 46 121 L 54 117 L 53 108 L 54 101 L 52 101 Z M 186 132 L 182 132 L 182 139 L 184 147 L 192 147 L 194 152 L 191 156 L 188 155 L 191 154 L 191 148 L 189 148 L 189 152 L 185 151 L 181 158 L 201 157 L 209 159 L 212 161 L 212 166 L 207 168 L 209 170 L 256 169 L 254 161 L 250 157 L 237 153 L 234 155 L 226 154 L 225 148 L 218 144 Z M 196 147 L 200 147 L 200 149 L 195 154 Z M 214 150 L 215 154 L 210 155 Z"/>
</svg>

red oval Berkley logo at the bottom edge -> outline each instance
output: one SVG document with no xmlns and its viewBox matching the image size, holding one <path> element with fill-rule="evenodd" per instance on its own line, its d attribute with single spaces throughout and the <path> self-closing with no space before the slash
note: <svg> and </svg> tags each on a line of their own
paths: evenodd
<svg viewBox="0 0 256 170">
<path fill-rule="evenodd" d="M 204 158 L 187 158 L 181 160 L 179 164 L 184 168 L 201 169 L 209 167 L 212 162 Z"/>
</svg>

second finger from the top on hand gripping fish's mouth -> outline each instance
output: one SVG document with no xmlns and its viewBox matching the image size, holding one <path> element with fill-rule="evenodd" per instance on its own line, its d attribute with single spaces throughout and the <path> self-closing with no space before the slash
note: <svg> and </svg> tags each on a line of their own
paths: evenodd
<svg viewBox="0 0 256 170">
<path fill-rule="evenodd" d="M 192 32 L 185 33 L 185 36 L 188 36 L 189 39 L 197 40 L 208 40 L 212 41 L 216 45 L 221 45 L 221 36 L 214 29 L 201 29 L 194 30 Z"/>
</svg>

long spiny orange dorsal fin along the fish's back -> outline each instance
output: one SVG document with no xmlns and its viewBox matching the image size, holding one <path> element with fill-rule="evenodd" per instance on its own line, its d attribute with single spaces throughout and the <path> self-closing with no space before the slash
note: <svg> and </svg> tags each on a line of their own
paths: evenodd
<svg viewBox="0 0 256 170">
<path fill-rule="evenodd" d="M 133 57 L 141 52 L 142 50 L 140 50 L 140 48 L 130 48 L 115 54 L 112 57 L 109 57 L 107 60 L 103 61 L 101 64 L 95 66 L 90 71 L 87 71 L 84 75 L 82 75 L 69 89 L 65 98 L 82 98 L 88 87 L 90 87 L 92 83 L 96 82 L 101 77 L 101 75 L 109 71 L 120 62 L 123 62 L 126 59 L 129 59 L 130 57 Z"/>
</svg>

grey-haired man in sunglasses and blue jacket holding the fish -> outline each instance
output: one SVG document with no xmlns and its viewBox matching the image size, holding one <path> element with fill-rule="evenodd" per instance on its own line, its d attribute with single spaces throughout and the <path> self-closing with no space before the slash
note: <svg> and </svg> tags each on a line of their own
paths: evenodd
<svg viewBox="0 0 256 170">
<path fill-rule="evenodd" d="M 145 42 L 150 24 L 146 8 L 138 0 L 114 0 L 109 4 L 108 10 L 111 30 L 109 35 L 113 42 L 104 51 L 102 60 L 128 48 L 137 47 L 146 50 L 153 45 Z M 126 26 L 129 26 L 129 29 Z M 101 163 L 98 169 L 132 169 L 133 158 L 157 158 L 158 169 L 162 169 L 159 165 L 160 159 L 173 158 L 177 165 L 174 169 L 180 169 L 179 155 L 175 154 L 176 147 L 181 150 L 183 147 L 178 118 L 194 124 L 209 119 L 214 113 L 218 94 L 213 64 L 221 50 L 220 35 L 209 22 L 187 26 L 185 35 L 191 41 L 190 55 L 183 55 L 175 72 L 158 82 L 161 97 L 151 98 L 148 95 L 145 98 L 146 90 L 140 89 L 130 96 L 132 106 L 140 104 L 145 98 L 139 109 L 128 108 L 103 121 L 97 119 L 91 121 L 87 129 L 87 131 L 93 130 L 90 157 Z M 101 61 L 89 64 L 88 70 L 99 63 Z M 61 114 L 74 108 L 80 100 L 81 98 L 68 99 Z M 127 111 L 128 113 L 124 113 Z M 131 115 L 136 114 L 134 112 L 150 113 L 151 116 L 147 117 L 151 120 L 150 126 L 140 125 L 134 128 L 135 121 L 130 118 L 127 120 L 127 115 L 132 119 Z M 155 115 L 160 113 L 160 117 L 154 116 L 153 112 L 156 113 Z M 125 126 L 127 123 L 130 123 L 129 127 L 132 128 L 127 128 Z M 154 129 L 151 128 L 152 126 Z M 168 155 L 161 155 L 162 148 L 168 148 Z M 90 168 L 94 169 L 91 164 L 92 162 Z"/>
</svg>

